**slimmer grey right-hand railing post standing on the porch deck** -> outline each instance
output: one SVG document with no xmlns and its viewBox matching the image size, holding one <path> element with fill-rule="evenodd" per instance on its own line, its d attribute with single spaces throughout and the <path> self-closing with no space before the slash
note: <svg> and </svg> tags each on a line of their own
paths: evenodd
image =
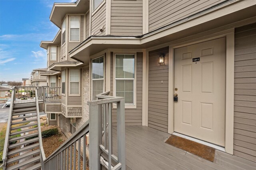
<svg viewBox="0 0 256 170">
<path fill-rule="evenodd" d="M 117 150 L 118 162 L 122 164 L 122 170 L 125 170 L 125 115 L 124 98 L 117 102 Z"/>
</svg>

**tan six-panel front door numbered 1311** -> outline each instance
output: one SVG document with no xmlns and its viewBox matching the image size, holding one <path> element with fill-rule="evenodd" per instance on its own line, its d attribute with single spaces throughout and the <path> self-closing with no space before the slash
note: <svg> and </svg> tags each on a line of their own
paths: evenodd
<svg viewBox="0 0 256 170">
<path fill-rule="evenodd" d="M 174 50 L 174 131 L 224 146 L 225 38 Z"/>
</svg>

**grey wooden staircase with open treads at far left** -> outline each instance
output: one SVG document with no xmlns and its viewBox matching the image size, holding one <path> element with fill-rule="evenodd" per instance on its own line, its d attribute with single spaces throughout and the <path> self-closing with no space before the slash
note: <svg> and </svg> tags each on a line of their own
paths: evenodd
<svg viewBox="0 0 256 170">
<path fill-rule="evenodd" d="M 6 170 L 41 169 L 36 100 L 14 102 L 10 125 Z"/>
</svg>

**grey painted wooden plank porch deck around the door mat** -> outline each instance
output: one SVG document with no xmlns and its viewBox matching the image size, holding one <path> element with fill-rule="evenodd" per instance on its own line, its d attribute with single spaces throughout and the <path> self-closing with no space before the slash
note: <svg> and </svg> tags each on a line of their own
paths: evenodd
<svg viewBox="0 0 256 170">
<path fill-rule="evenodd" d="M 256 163 L 216 150 L 214 162 L 164 143 L 170 134 L 145 126 L 126 126 L 126 170 L 256 170 Z M 116 154 L 116 127 L 113 152 Z"/>
</svg>

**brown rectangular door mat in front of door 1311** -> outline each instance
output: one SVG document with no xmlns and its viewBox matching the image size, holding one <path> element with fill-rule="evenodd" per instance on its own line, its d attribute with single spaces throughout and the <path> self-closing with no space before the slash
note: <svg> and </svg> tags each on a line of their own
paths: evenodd
<svg viewBox="0 0 256 170">
<path fill-rule="evenodd" d="M 211 162 L 214 161 L 215 149 L 188 139 L 171 135 L 165 142 L 169 145 L 186 150 Z"/>
</svg>

